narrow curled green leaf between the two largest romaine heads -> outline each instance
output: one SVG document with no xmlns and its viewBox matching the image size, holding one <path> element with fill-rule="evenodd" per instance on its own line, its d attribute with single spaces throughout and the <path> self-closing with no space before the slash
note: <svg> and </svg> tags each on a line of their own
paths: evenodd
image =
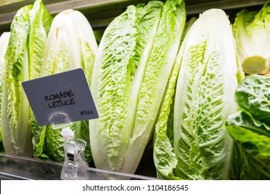
<svg viewBox="0 0 270 194">
<path fill-rule="evenodd" d="M 154 129 L 154 164 L 156 166 L 156 174 L 160 179 L 180 179 L 174 175 L 174 168 L 177 166 L 177 157 L 174 154 L 173 142 L 174 142 L 174 100 L 175 100 L 175 89 L 177 84 L 177 78 L 179 75 L 181 60 L 183 57 L 183 49 L 185 48 L 183 43 L 184 37 L 188 33 L 188 30 L 197 18 L 192 17 L 186 22 L 181 37 L 181 46 L 179 54 L 172 67 L 172 73 L 168 81 L 165 95 L 159 111 L 159 117 Z"/>
</svg>

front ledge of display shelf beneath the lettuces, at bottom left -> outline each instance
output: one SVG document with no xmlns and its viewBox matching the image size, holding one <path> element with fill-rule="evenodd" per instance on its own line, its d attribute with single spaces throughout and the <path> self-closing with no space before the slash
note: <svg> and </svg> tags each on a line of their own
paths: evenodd
<svg viewBox="0 0 270 194">
<path fill-rule="evenodd" d="M 60 180 L 63 164 L 54 161 L 42 161 L 29 157 L 19 157 L 0 154 L 1 180 Z M 89 180 L 105 179 L 106 175 L 117 176 L 117 179 L 149 180 L 156 179 L 143 175 L 116 173 L 97 168 L 86 168 L 89 171 Z"/>
</svg>

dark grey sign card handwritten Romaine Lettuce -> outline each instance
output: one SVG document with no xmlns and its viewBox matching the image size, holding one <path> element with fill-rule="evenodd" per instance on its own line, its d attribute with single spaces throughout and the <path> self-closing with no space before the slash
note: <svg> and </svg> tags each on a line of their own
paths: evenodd
<svg viewBox="0 0 270 194">
<path fill-rule="evenodd" d="M 55 114 L 68 116 L 69 121 L 98 118 L 84 70 L 74 69 L 51 76 L 22 82 L 38 125 L 61 124 L 52 120 Z"/>
</svg>

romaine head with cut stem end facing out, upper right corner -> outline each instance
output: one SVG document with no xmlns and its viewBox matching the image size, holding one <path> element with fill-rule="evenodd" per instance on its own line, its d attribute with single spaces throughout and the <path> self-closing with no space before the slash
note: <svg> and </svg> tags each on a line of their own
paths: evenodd
<svg viewBox="0 0 270 194">
<path fill-rule="evenodd" d="M 260 11 L 242 10 L 233 24 L 237 51 L 245 73 L 264 74 L 270 69 L 270 4 Z"/>
</svg>

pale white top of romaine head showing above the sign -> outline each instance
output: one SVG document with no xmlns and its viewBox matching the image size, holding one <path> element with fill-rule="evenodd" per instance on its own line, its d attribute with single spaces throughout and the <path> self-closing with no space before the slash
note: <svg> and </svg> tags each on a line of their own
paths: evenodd
<svg viewBox="0 0 270 194">
<path fill-rule="evenodd" d="M 64 10 L 53 19 L 41 76 L 82 67 L 91 85 L 98 44 L 87 18 L 78 10 Z"/>
</svg>

